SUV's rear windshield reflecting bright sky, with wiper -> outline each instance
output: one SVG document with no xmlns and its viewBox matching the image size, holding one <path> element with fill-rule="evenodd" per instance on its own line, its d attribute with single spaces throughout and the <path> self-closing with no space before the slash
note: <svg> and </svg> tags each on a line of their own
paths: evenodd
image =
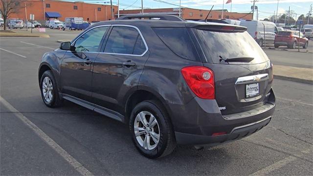
<svg viewBox="0 0 313 176">
<path fill-rule="evenodd" d="M 229 62 L 229 64 L 259 64 L 268 61 L 267 55 L 247 32 L 213 32 L 197 29 L 199 42 L 207 58 L 214 64 L 228 64 L 220 59 L 252 57 L 249 63 Z"/>
</svg>

